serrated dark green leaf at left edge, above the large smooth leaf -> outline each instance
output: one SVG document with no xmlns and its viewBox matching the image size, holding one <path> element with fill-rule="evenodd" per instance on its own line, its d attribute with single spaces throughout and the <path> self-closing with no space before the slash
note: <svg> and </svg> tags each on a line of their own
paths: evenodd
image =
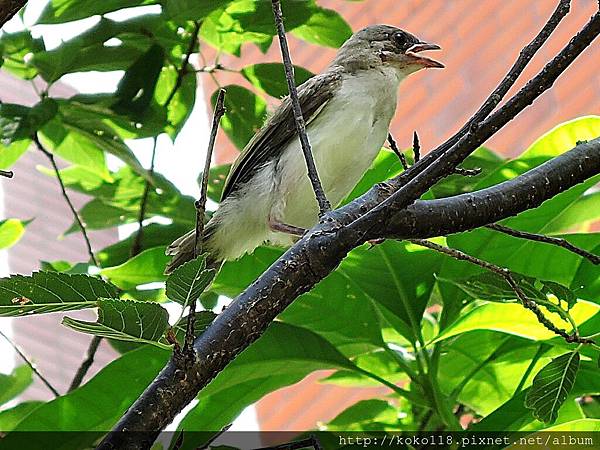
<svg viewBox="0 0 600 450">
<path fill-rule="evenodd" d="M 23 316 L 93 308 L 101 297 L 116 297 L 115 287 L 89 275 L 34 272 L 0 279 L 0 316 Z"/>
</svg>

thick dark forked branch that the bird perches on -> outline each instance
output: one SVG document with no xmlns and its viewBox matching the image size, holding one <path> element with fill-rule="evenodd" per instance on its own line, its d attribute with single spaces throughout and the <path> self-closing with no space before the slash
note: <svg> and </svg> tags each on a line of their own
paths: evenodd
<svg viewBox="0 0 600 450">
<path fill-rule="evenodd" d="M 419 205 L 423 208 L 425 205 L 426 210 L 422 210 L 422 213 L 433 214 L 432 203 L 415 203 L 415 200 L 439 179 L 451 173 L 487 138 L 547 90 L 599 33 L 600 14 L 596 14 L 557 57 L 548 63 L 538 76 L 527 83 L 524 89 L 488 119 L 479 125 L 470 126 L 468 132 L 451 145 L 440 158 L 427 162 L 428 157 L 424 157 L 420 163 L 403 172 L 396 179 L 374 187 L 359 199 L 327 214 L 322 223 L 310 230 L 273 263 L 196 339 L 194 348 L 197 358 L 193 366 L 183 371 L 178 368 L 173 359 L 167 364 L 121 418 L 113 432 L 105 437 L 100 448 L 149 448 L 160 430 L 196 397 L 200 389 L 242 350 L 258 339 L 271 321 L 294 299 L 310 290 L 334 270 L 352 248 L 363 243 L 367 237 L 396 233 L 398 228 L 392 227 L 392 224 L 401 224 L 401 217 L 407 215 L 411 208 L 418 208 Z M 530 195 L 523 194 L 520 201 L 511 199 L 510 208 L 507 206 L 506 210 L 498 212 L 497 204 L 491 203 L 492 194 L 502 199 L 505 193 L 501 189 L 508 188 L 524 193 L 525 187 L 519 189 L 518 186 L 531 189 L 532 175 L 528 177 L 528 174 L 525 174 L 513 180 L 512 185 L 503 183 L 500 185 L 502 187 L 495 187 L 496 191 L 488 191 L 484 194 L 489 197 L 482 199 L 474 197 L 472 201 L 478 199 L 488 202 L 487 206 L 483 204 L 479 206 L 479 214 L 485 216 L 484 219 L 473 218 L 478 213 L 474 212 L 472 206 L 466 208 L 469 202 L 463 197 L 458 205 L 465 206 L 462 214 L 466 217 L 457 216 L 455 213 L 457 217 L 453 223 L 456 229 L 445 225 L 439 230 L 430 228 L 429 232 L 431 235 L 438 235 L 464 231 L 469 229 L 465 226 L 467 223 L 479 227 L 539 205 L 543 200 L 555 195 L 557 191 L 568 189 L 586 177 L 600 173 L 597 159 L 599 144 L 598 140 L 581 144 L 572 152 L 557 158 L 565 163 L 575 159 L 579 165 L 589 165 L 589 167 L 570 166 L 569 172 L 562 166 L 560 173 L 550 170 L 549 175 L 555 176 L 557 182 L 554 184 L 551 182 L 550 186 L 546 186 L 544 180 L 541 182 L 538 180 L 540 189 L 535 189 L 535 192 L 531 192 Z M 590 152 L 595 152 L 596 156 L 594 157 Z M 561 158 L 566 159 L 561 160 Z M 548 165 L 552 167 L 555 161 L 544 166 L 548 169 Z M 414 169 L 415 167 L 419 169 Z M 399 186 L 402 187 L 398 190 Z M 389 201 L 384 200 L 382 203 L 381 200 L 385 198 L 389 198 Z M 435 201 L 452 202 L 453 198 Z M 409 204 L 412 206 L 407 209 Z M 445 204 L 438 203 L 438 205 Z M 364 219 L 366 217 L 368 220 Z M 418 224 L 419 220 L 416 220 L 408 225 L 416 229 Z M 421 226 L 428 227 L 427 224 Z M 123 433 L 125 430 L 128 432 Z"/>
</svg>

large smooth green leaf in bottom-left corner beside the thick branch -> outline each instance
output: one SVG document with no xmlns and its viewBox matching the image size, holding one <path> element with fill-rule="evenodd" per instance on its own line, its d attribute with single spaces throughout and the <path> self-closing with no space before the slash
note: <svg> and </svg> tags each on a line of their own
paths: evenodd
<svg viewBox="0 0 600 450">
<path fill-rule="evenodd" d="M 3 438 L 2 445 L 5 448 L 93 447 L 146 389 L 169 356 L 170 352 L 154 346 L 122 355 L 80 388 L 35 409 L 19 423 L 15 433 Z M 86 414 L 82 414 L 82 408 Z"/>
</svg>

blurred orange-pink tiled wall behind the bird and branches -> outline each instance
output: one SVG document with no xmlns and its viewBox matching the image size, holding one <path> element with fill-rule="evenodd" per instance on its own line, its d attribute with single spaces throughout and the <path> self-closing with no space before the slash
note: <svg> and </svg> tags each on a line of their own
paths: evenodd
<svg viewBox="0 0 600 450">
<path fill-rule="evenodd" d="M 391 131 L 399 144 L 411 145 L 417 130 L 424 151 L 451 136 L 479 107 L 502 79 L 521 48 L 544 25 L 556 6 L 555 0 L 318 0 L 337 10 L 358 30 L 370 24 L 388 23 L 406 29 L 424 40 L 442 46 L 435 57 L 444 70 L 413 75 L 398 93 L 398 109 Z M 540 50 L 522 80 L 535 75 L 597 9 L 596 0 L 574 0 L 570 14 L 551 40 Z M 284 11 L 285 13 L 285 11 Z M 327 67 L 335 51 L 307 45 L 290 37 L 292 59 L 313 72 Z M 203 49 L 207 63 L 214 53 Z M 247 46 L 242 59 L 222 56 L 226 67 L 242 68 L 258 62 L 280 61 L 276 42 L 266 55 Z M 554 125 L 581 115 L 600 112 L 600 46 L 588 48 L 577 62 L 543 94 L 486 144 L 507 156 L 521 153 L 540 134 Z M 237 74 L 217 74 L 222 85 L 243 84 Z M 204 78 L 207 94 L 216 86 Z M 520 81 L 522 81 L 520 80 Z M 522 85 L 522 84 L 521 84 Z M 515 89 L 512 90 L 515 92 Z M 512 93 L 511 92 L 511 93 Z M 208 97 L 208 95 L 207 95 Z M 219 136 L 218 160 L 231 161 L 237 150 Z M 373 390 L 348 390 L 316 384 L 318 375 L 277 391 L 258 403 L 263 430 L 302 430 L 327 421 L 358 398 L 375 395 Z"/>
</svg>

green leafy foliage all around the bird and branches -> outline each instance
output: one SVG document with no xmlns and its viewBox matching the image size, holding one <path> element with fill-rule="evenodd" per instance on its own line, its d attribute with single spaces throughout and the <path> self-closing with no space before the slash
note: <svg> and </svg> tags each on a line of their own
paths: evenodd
<svg viewBox="0 0 600 450">
<path fill-rule="evenodd" d="M 282 3 L 287 30 L 307 44 L 337 47 L 351 34 L 339 14 L 319 7 L 314 0 Z M 131 17 L 120 21 L 104 16 L 144 5 L 160 8 L 150 13 L 132 9 Z M 194 226 L 194 198 L 181 194 L 172 180 L 143 167 L 129 145 L 132 140 L 161 134 L 174 140 L 196 101 L 199 77 L 218 81 L 219 71 L 232 70 L 221 67 L 218 60 L 199 70 L 190 63 L 195 59 L 189 59 L 189 54 L 211 46 L 240 56 L 246 43 L 262 51 L 273 45 L 270 2 L 52 0 L 36 25 L 92 16 L 99 18 L 92 28 L 52 49 L 28 30 L 0 37 L 2 70 L 26 80 L 41 78 L 47 86 L 31 107 L 0 106 L 0 169 L 9 169 L 25 152 L 35 151 L 31 143 L 36 137 L 67 164 L 60 175 L 68 191 L 89 197 L 79 210 L 88 230 L 136 223 L 145 204 L 143 234 L 136 251 L 132 252 L 132 246 L 137 231 L 99 249 L 98 268 L 92 261 L 40 262 L 39 273 L 0 280 L 1 315 L 97 308 L 97 322 L 67 314 L 63 323 L 109 338 L 122 352 L 70 393 L 49 402 L 13 403 L 0 411 L 3 432 L 97 432 L 61 435 L 61 448 L 92 445 L 114 425 L 167 360 L 166 331 L 172 327 L 181 339 L 185 320 L 181 316 L 189 302 L 199 299 L 203 306 L 197 322 L 201 332 L 227 298 L 242 292 L 283 251 L 259 248 L 225 264 L 218 274 L 205 270 L 199 258 L 167 279 L 163 275 L 165 246 Z M 66 74 L 88 71 L 123 71 L 123 76 L 110 94 L 78 94 L 67 99 L 49 94 L 52 84 Z M 239 75 L 254 90 L 226 86 L 222 128 L 241 149 L 265 120 L 267 104 L 277 102 L 287 87 L 279 62 L 245 66 Z M 298 83 L 310 76 L 308 70 L 296 69 Z M 588 116 L 561 124 L 529 148 L 518 149 L 522 153 L 517 159 L 507 160 L 480 148 L 464 164 L 481 167 L 480 175 L 450 176 L 426 198 L 474 191 L 514 178 L 569 150 L 577 141 L 598 135 L 600 117 Z M 107 155 L 118 158 L 120 167 L 109 168 Z M 396 156 L 382 150 L 347 201 L 401 170 Z M 211 170 L 213 206 L 227 171 L 228 166 Z M 42 172 L 40 176 L 56 177 L 51 168 Z M 590 231 L 590 224 L 600 218 L 600 192 L 594 187 L 598 180 L 595 177 L 504 223 L 564 237 L 600 254 L 600 234 Z M 2 220 L 0 248 L 17 242 L 27 232 L 27 224 L 16 218 Z M 76 232 L 80 232 L 77 222 L 65 230 Z M 558 326 L 570 329 L 575 323 L 583 335 L 598 332 L 598 269 L 581 257 L 488 229 L 437 242 L 530 277 L 532 295 L 551 304 L 544 311 Z M 542 289 L 550 282 L 561 288 Z M 163 307 L 166 303 L 179 305 L 179 317 L 169 316 Z M 557 308 L 562 316 L 556 314 Z M 365 245 L 296 300 L 263 337 L 221 372 L 199 394 L 198 403 L 178 427 L 219 430 L 264 395 L 322 369 L 334 370 L 324 383 L 349 389 L 389 388 L 384 396 L 351 406 L 322 424 L 322 429 L 437 430 L 456 429 L 459 423 L 473 430 L 540 430 L 551 423 L 565 424 L 566 429 L 569 424 L 597 427 L 598 350 L 576 347 L 546 330 L 516 303 L 514 293 L 478 267 L 405 242 Z M 553 391 L 544 401 L 531 393 L 535 390 L 532 383 L 544 381 L 540 373 L 545 366 L 552 369 L 547 369 L 552 372 L 550 383 L 557 376 L 567 380 L 567 394 Z M 0 377 L 0 404 L 18 397 L 31 381 L 27 366 Z M 9 434 L 6 445 L 13 438 L 19 439 Z M 184 446 L 198 444 L 185 442 Z"/>
</svg>

